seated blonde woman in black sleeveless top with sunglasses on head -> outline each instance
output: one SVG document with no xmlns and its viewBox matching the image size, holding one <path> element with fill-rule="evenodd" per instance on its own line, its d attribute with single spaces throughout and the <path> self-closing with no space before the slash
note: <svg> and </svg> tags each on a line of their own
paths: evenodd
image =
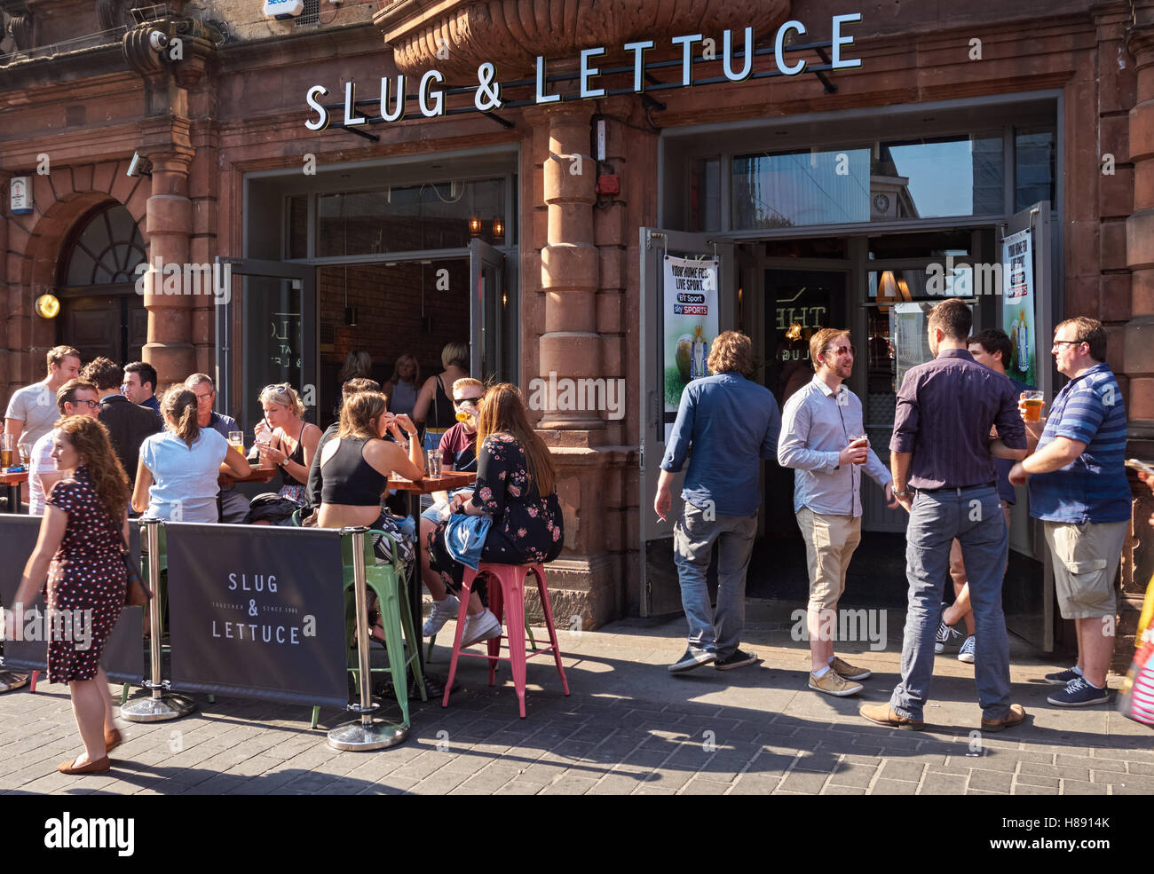
<svg viewBox="0 0 1154 874">
<path fill-rule="evenodd" d="M 293 511 L 305 503 L 308 467 L 321 440 L 321 429 L 305 421 L 305 405 L 288 383 L 264 386 L 261 407 L 264 419 L 254 429 L 257 446 L 262 461 L 280 467 L 280 490 L 276 495 L 257 495 L 246 521 L 292 525 Z M 271 439 L 262 443 L 262 434 L 271 434 Z"/>
</svg>

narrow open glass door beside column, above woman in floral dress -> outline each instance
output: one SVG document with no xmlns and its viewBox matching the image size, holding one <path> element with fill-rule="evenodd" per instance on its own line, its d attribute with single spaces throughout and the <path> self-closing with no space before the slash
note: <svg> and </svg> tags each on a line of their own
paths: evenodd
<svg viewBox="0 0 1154 874">
<path fill-rule="evenodd" d="M 512 259 L 484 240 L 469 243 L 470 372 L 478 379 L 517 383 L 518 300 L 510 294 Z"/>
</svg>

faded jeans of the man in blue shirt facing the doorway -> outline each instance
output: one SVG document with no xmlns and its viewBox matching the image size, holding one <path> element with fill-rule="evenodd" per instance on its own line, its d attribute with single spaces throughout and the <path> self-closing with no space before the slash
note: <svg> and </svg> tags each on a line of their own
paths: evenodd
<svg viewBox="0 0 1154 874">
<path fill-rule="evenodd" d="M 718 515 L 685 502 L 673 527 L 673 560 L 681 582 L 681 603 L 689 620 L 689 646 L 726 658 L 737 649 L 745 624 L 745 571 L 757 535 L 757 513 Z M 718 541 L 718 606 L 710 605 L 705 572 Z"/>
</svg>

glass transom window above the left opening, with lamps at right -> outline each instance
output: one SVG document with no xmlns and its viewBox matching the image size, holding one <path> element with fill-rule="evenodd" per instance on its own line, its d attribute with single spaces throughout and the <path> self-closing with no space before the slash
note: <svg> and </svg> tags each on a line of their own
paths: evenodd
<svg viewBox="0 0 1154 874">
<path fill-rule="evenodd" d="M 505 179 L 427 182 L 317 198 L 319 257 L 505 246 Z"/>
</svg>

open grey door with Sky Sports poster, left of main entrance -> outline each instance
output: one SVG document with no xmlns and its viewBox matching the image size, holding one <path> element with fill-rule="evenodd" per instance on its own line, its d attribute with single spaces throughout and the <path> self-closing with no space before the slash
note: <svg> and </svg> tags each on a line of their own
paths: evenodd
<svg viewBox="0 0 1154 874">
<path fill-rule="evenodd" d="M 673 522 L 681 515 L 684 468 L 674 480 L 665 522 L 653 512 L 666 442 L 681 392 L 703 366 L 710 344 L 736 327 L 734 244 L 715 234 L 640 228 L 640 612 L 681 609 L 673 563 Z"/>
</svg>

